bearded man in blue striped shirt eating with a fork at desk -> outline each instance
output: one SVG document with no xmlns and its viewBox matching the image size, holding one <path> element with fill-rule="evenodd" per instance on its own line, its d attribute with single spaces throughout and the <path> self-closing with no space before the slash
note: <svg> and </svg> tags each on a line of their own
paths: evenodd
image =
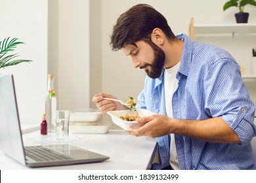
<svg viewBox="0 0 256 183">
<path fill-rule="evenodd" d="M 249 169 L 255 107 L 242 81 L 238 63 L 221 48 L 175 36 L 167 20 L 149 5 L 135 5 L 119 16 L 112 50 L 131 56 L 144 69 L 144 90 L 137 108 L 156 115 L 128 131 L 155 137 L 159 163 L 152 169 Z M 93 98 L 103 114 L 125 107 L 98 93 Z"/>
</svg>

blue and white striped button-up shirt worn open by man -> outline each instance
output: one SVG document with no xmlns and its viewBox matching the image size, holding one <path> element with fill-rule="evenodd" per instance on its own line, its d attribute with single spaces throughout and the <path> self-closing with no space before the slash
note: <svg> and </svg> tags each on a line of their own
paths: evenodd
<svg viewBox="0 0 256 183">
<path fill-rule="evenodd" d="M 238 135 L 241 144 L 199 141 L 175 135 L 180 169 L 247 169 L 254 164 L 251 139 L 256 136 L 253 124 L 255 107 L 244 85 L 240 67 L 225 50 L 202 42 L 192 42 L 184 34 L 179 86 L 173 94 L 173 118 L 206 120 L 221 117 Z M 146 77 L 137 108 L 165 114 L 163 73 L 160 78 Z M 169 166 L 170 136 L 156 138 L 160 163 Z"/>
</svg>

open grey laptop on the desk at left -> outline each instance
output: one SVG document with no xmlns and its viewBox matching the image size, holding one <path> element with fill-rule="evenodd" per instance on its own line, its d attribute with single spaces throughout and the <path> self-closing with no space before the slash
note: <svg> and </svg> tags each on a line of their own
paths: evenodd
<svg viewBox="0 0 256 183">
<path fill-rule="evenodd" d="M 0 76 L 0 150 L 27 167 L 96 163 L 109 159 L 70 144 L 24 146 L 13 75 Z"/>
</svg>

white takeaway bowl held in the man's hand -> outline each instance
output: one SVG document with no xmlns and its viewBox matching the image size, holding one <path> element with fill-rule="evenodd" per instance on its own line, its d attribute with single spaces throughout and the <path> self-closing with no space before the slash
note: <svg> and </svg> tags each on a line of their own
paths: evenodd
<svg viewBox="0 0 256 183">
<path fill-rule="evenodd" d="M 129 127 L 133 127 L 133 128 L 141 127 L 142 124 L 138 124 L 137 121 L 128 122 L 120 118 L 121 116 L 125 116 L 127 112 L 130 112 L 130 110 L 112 110 L 112 111 L 108 111 L 107 114 L 111 116 L 114 124 L 125 129 L 126 131 L 130 130 Z M 135 114 L 134 111 L 131 111 L 131 112 L 133 112 L 131 114 Z M 137 108 L 137 112 L 139 113 L 140 117 L 145 117 L 145 116 L 150 116 L 152 114 L 155 114 L 154 112 L 151 112 L 149 110 L 142 109 L 142 108 Z"/>
</svg>

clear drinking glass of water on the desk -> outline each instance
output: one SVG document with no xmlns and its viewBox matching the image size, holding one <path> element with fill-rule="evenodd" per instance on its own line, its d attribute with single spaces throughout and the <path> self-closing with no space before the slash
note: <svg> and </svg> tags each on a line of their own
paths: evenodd
<svg viewBox="0 0 256 183">
<path fill-rule="evenodd" d="M 69 110 L 56 110 L 56 139 L 58 141 L 63 141 L 68 137 L 69 121 Z"/>
</svg>

